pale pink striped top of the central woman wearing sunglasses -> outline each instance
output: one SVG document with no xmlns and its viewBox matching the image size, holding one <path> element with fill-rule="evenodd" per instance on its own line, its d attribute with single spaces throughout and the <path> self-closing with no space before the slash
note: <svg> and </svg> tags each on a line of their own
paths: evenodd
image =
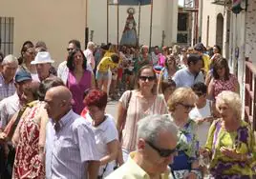
<svg viewBox="0 0 256 179">
<path fill-rule="evenodd" d="M 165 114 L 167 113 L 167 107 L 164 102 L 162 95 L 156 95 L 153 104 L 149 109 L 144 110 L 141 105 L 141 99 L 137 96 L 137 90 L 133 90 L 133 94 L 130 99 L 129 108 L 127 110 L 126 123 L 122 131 L 123 144 L 122 148 L 128 151 L 133 151 L 136 149 L 137 140 L 137 123 L 140 119 L 147 115 L 152 114 Z M 127 100 L 130 95 L 130 91 L 125 91 L 119 102 L 124 109 L 127 109 Z"/>
</svg>

